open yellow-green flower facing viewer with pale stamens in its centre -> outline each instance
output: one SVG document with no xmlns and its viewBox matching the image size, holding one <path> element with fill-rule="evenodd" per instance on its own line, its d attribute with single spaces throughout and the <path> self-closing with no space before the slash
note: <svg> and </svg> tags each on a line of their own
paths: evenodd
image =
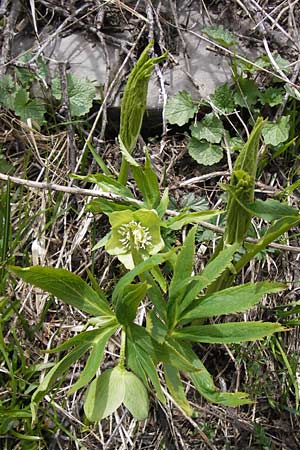
<svg viewBox="0 0 300 450">
<path fill-rule="evenodd" d="M 111 237 L 105 245 L 110 255 L 117 256 L 126 269 L 134 268 L 136 258 L 147 259 L 165 246 L 160 235 L 160 218 L 156 211 L 118 211 L 109 214 Z"/>
</svg>

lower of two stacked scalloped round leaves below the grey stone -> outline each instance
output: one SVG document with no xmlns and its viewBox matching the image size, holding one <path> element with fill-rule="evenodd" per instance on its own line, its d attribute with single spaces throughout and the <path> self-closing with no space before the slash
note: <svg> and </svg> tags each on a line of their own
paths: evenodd
<svg viewBox="0 0 300 450">
<path fill-rule="evenodd" d="M 206 141 L 199 141 L 194 137 L 189 138 L 188 152 L 190 156 L 203 166 L 217 164 L 223 158 L 223 149 L 219 145 L 212 145 Z"/>
</svg>

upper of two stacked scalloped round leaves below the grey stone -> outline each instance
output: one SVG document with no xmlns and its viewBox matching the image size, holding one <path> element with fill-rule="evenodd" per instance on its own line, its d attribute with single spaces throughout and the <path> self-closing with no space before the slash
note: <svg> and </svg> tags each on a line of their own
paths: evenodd
<svg viewBox="0 0 300 450">
<path fill-rule="evenodd" d="M 214 113 L 206 114 L 201 122 L 190 126 L 194 138 L 206 139 L 211 144 L 219 144 L 224 134 L 224 127 L 220 119 Z"/>
</svg>

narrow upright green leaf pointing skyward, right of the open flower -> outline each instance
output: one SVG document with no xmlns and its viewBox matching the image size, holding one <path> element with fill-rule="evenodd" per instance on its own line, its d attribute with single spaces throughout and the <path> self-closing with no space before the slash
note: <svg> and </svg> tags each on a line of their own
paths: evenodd
<svg viewBox="0 0 300 450">
<path fill-rule="evenodd" d="M 169 287 L 167 304 L 168 327 L 172 328 L 177 321 L 178 306 L 185 294 L 186 280 L 192 275 L 195 256 L 195 234 L 197 227 L 193 227 L 187 235 L 181 251 L 176 257 L 173 277 Z"/>
</svg>

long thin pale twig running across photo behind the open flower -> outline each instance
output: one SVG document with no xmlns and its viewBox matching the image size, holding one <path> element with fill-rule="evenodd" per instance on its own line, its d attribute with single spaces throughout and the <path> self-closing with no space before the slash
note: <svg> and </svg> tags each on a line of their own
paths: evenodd
<svg viewBox="0 0 300 450">
<path fill-rule="evenodd" d="M 0 180 L 3 181 L 12 181 L 15 184 L 20 184 L 22 186 L 31 187 L 34 189 L 43 189 L 43 190 L 50 190 L 50 191 L 59 191 L 59 192 L 66 192 L 67 194 L 73 194 L 73 195 L 84 195 L 84 196 L 90 196 L 90 197 L 99 197 L 99 198 L 106 198 L 107 200 L 112 200 L 114 202 L 118 203 L 127 203 L 127 204 L 134 204 L 139 207 L 144 206 L 144 203 L 140 200 L 136 200 L 134 198 L 130 197 L 123 197 L 121 195 L 116 195 L 108 192 L 97 192 L 92 189 L 81 189 L 78 187 L 72 187 L 72 186 L 61 186 L 59 184 L 55 183 L 47 183 L 47 182 L 39 182 L 39 181 L 31 181 L 31 180 L 24 180 L 23 178 L 13 177 L 10 175 L 6 175 L 4 173 L 0 172 Z M 167 209 L 166 214 L 168 216 L 178 216 L 179 213 L 176 211 L 172 211 Z M 207 228 L 208 230 L 212 230 L 215 233 L 223 234 L 224 228 L 218 227 L 217 225 L 213 225 L 212 223 L 201 221 L 199 222 L 199 225 Z M 251 242 L 256 244 L 259 242 L 259 239 L 254 238 L 246 238 L 247 242 Z M 300 253 L 300 247 L 295 247 L 292 245 L 282 245 L 282 244 L 269 244 L 268 247 L 276 248 L 279 250 L 285 250 L 293 253 Z"/>
</svg>

